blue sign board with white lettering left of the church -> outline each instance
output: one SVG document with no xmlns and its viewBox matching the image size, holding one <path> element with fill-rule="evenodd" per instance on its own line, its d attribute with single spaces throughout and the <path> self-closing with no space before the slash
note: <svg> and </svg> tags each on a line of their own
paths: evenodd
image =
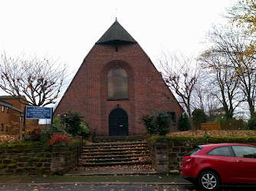
<svg viewBox="0 0 256 191">
<path fill-rule="evenodd" d="M 28 119 L 51 119 L 52 108 L 41 108 L 36 106 L 26 106 L 26 118 Z"/>
</svg>

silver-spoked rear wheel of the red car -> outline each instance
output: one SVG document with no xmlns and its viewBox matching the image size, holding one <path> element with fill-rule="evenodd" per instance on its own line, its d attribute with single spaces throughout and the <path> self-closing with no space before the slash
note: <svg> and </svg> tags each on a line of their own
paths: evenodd
<svg viewBox="0 0 256 191">
<path fill-rule="evenodd" d="M 202 189 L 215 190 L 219 186 L 218 175 L 212 171 L 205 171 L 199 175 L 198 184 Z"/>
</svg>

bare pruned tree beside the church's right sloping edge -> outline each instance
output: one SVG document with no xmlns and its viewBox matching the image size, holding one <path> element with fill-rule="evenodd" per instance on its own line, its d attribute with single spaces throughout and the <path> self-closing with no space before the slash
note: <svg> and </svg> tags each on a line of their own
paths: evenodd
<svg viewBox="0 0 256 191">
<path fill-rule="evenodd" d="M 196 83 L 202 77 L 202 71 L 194 57 L 186 57 L 182 53 L 162 53 L 159 65 L 166 84 L 179 97 L 179 103 L 183 105 L 192 122 L 192 94 Z"/>
</svg>

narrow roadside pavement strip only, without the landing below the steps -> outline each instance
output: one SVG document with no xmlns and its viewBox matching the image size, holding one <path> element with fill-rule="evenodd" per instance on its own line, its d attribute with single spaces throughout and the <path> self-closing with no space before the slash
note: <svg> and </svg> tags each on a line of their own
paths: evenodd
<svg viewBox="0 0 256 191">
<path fill-rule="evenodd" d="M 95 176 L 0 176 L 0 184 L 51 184 L 51 183 L 146 183 L 190 184 L 177 174 L 170 175 L 95 175 Z"/>
</svg>

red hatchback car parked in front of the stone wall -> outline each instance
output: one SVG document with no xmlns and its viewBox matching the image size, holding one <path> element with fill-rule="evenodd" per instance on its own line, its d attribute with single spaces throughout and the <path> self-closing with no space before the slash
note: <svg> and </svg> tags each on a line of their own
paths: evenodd
<svg viewBox="0 0 256 191">
<path fill-rule="evenodd" d="M 256 147 L 250 144 L 199 145 L 185 154 L 180 170 L 183 178 L 206 190 L 228 183 L 256 183 Z"/>
</svg>

